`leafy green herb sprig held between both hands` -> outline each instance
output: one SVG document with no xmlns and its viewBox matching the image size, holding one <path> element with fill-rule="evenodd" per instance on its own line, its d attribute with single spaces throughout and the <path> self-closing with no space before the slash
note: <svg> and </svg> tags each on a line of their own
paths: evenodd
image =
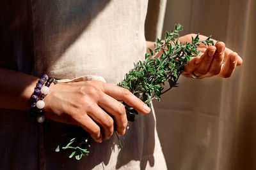
<svg viewBox="0 0 256 170">
<path fill-rule="evenodd" d="M 207 46 L 214 45 L 211 36 L 200 41 L 199 34 L 195 38 L 192 37 L 191 42 L 183 44 L 179 42 L 179 31 L 182 29 L 182 25 L 175 24 L 174 30 L 166 32 L 163 40 L 157 38 L 154 50 L 148 48 L 150 53 L 145 53 L 145 60 L 134 64 L 134 68 L 125 75 L 125 79 L 118 83 L 118 86 L 130 90 L 148 106 L 151 106 L 152 99 L 160 101 L 164 93 L 177 87 L 177 80 L 182 74 L 185 64 L 191 60 L 191 57 L 196 57 L 200 53 L 197 46 L 200 43 Z M 164 89 L 166 82 L 169 84 L 168 89 Z M 127 120 L 133 122 L 138 111 L 122 101 L 121 103 L 125 106 Z M 69 157 L 75 156 L 77 160 L 88 155 L 92 138 L 81 127 L 72 126 L 72 130 L 61 139 L 68 144 L 65 145 L 65 142 L 64 145 L 60 144 L 56 148 L 56 152 L 70 150 Z M 122 146 L 121 143 L 120 145 Z"/>
</svg>

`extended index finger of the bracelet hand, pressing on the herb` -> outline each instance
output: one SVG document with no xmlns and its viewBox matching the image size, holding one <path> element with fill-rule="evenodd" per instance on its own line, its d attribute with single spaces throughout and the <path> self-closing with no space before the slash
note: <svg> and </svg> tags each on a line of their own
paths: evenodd
<svg viewBox="0 0 256 170">
<path fill-rule="evenodd" d="M 147 104 L 143 103 L 143 101 L 134 96 L 129 90 L 108 83 L 102 87 L 102 91 L 108 94 L 108 96 L 111 96 L 118 101 L 124 101 L 126 104 L 140 113 L 150 112 L 150 108 L 147 106 Z"/>
</svg>

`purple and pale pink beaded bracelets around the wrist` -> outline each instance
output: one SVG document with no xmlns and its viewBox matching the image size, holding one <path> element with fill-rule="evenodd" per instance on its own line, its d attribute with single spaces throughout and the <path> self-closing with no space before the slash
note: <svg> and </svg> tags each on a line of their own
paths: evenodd
<svg viewBox="0 0 256 170">
<path fill-rule="evenodd" d="M 30 117 L 39 123 L 43 123 L 45 120 L 44 110 L 42 110 L 45 106 L 43 99 L 49 93 L 49 87 L 52 82 L 54 82 L 55 84 L 57 83 L 55 78 L 49 78 L 46 74 L 44 74 L 38 80 L 38 83 L 36 83 L 36 89 L 34 91 L 34 94 L 31 96 L 32 103 L 30 109 Z M 45 86 L 43 87 L 44 84 Z"/>
</svg>

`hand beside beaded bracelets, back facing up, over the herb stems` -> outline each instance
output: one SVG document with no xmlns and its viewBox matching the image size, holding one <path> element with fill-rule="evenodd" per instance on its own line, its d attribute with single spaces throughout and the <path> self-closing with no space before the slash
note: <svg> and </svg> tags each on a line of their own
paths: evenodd
<svg viewBox="0 0 256 170">
<path fill-rule="evenodd" d="M 44 99 L 45 116 L 56 122 L 79 125 L 97 142 L 113 134 L 114 121 L 108 113 L 115 117 L 118 134 L 125 133 L 127 117 L 119 101 L 141 113 L 150 112 L 150 108 L 129 90 L 102 81 L 58 83 L 50 89 Z"/>
</svg>

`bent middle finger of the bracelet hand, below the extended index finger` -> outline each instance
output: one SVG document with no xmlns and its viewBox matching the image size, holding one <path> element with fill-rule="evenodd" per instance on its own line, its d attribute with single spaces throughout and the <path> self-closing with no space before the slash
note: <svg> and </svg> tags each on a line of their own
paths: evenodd
<svg viewBox="0 0 256 170">
<path fill-rule="evenodd" d="M 99 106 L 115 117 L 116 131 L 118 134 L 124 135 L 125 128 L 127 127 L 127 116 L 124 104 L 116 101 L 113 97 L 104 94 L 102 100 L 99 101 Z"/>
</svg>

